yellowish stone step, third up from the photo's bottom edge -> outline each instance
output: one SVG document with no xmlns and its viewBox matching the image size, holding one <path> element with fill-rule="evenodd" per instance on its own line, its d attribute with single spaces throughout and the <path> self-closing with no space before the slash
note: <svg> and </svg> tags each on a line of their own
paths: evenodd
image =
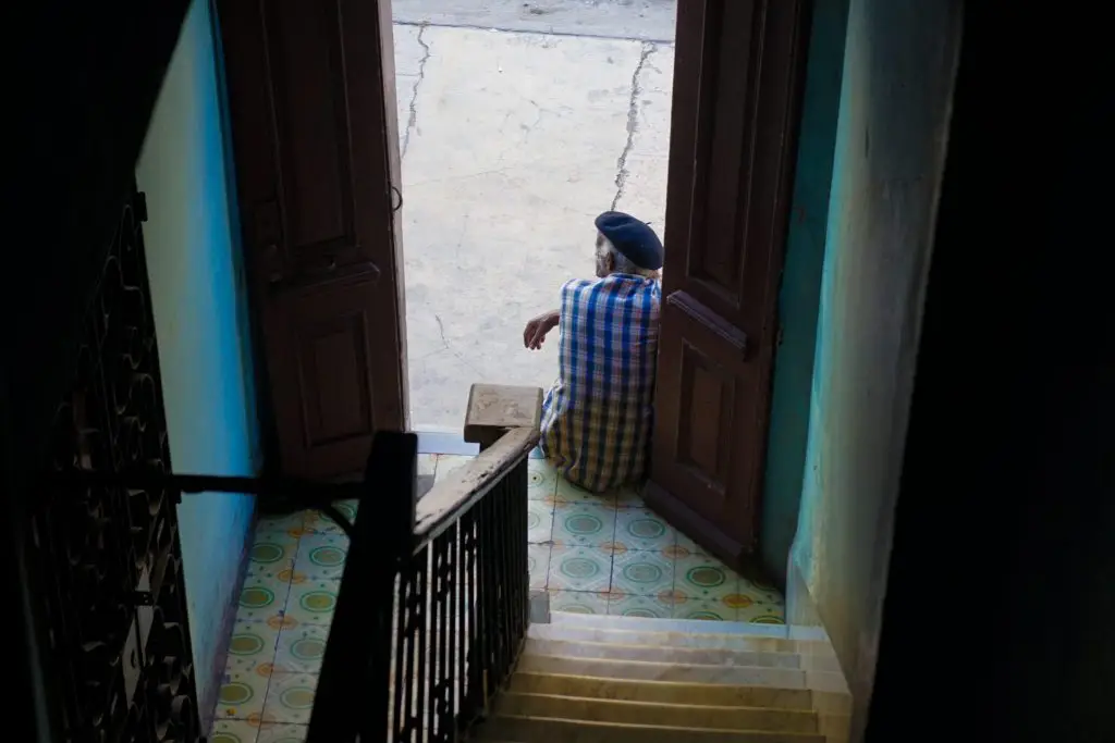
<svg viewBox="0 0 1115 743">
<path fill-rule="evenodd" d="M 813 695 L 804 688 L 600 678 L 533 673 L 522 667 L 511 677 L 510 691 L 521 694 L 551 694 L 651 704 L 710 704 L 805 711 L 813 708 Z"/>
</svg>

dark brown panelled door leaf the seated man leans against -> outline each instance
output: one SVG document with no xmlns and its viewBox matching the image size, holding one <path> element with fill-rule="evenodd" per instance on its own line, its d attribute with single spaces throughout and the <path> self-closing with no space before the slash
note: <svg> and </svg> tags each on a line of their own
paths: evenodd
<svg viewBox="0 0 1115 743">
<path fill-rule="evenodd" d="M 753 567 L 807 0 L 678 3 L 647 502 Z"/>
</svg>

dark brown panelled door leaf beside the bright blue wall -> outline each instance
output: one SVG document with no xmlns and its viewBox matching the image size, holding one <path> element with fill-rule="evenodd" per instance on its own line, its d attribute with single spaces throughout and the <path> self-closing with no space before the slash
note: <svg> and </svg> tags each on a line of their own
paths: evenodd
<svg viewBox="0 0 1115 743">
<path fill-rule="evenodd" d="M 388 0 L 219 3 L 261 381 L 289 475 L 406 427 Z"/>
</svg>

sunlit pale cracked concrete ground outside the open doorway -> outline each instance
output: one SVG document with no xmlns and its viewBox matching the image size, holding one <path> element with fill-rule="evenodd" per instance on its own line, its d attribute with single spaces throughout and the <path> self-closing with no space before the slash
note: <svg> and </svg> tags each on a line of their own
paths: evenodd
<svg viewBox="0 0 1115 743">
<path fill-rule="evenodd" d="M 458 431 L 473 382 L 553 381 L 556 333 L 530 352 L 523 325 L 556 307 L 564 281 L 591 276 L 597 214 L 662 233 L 673 48 L 394 30 L 410 420 Z"/>
</svg>

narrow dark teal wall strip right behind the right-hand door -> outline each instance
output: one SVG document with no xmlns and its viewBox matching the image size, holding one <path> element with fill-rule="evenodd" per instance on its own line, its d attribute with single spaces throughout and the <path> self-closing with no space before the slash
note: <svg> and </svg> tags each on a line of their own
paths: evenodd
<svg viewBox="0 0 1115 743">
<path fill-rule="evenodd" d="M 814 6 L 793 216 L 778 293 L 783 335 L 774 366 L 759 549 L 766 570 L 783 581 L 802 499 L 849 1 Z"/>
</svg>

